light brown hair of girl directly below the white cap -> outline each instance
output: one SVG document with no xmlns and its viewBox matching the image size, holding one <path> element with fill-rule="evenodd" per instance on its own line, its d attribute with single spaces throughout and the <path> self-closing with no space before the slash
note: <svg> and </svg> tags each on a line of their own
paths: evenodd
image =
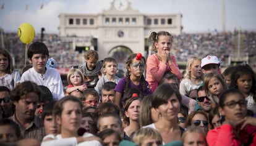
<svg viewBox="0 0 256 146">
<path fill-rule="evenodd" d="M 224 81 L 224 79 L 222 78 L 222 76 L 220 74 L 218 74 L 218 73 L 207 73 L 207 74 L 203 75 L 203 87 L 205 88 L 205 93 L 207 95 L 210 95 L 208 85 L 209 85 L 209 82 L 210 82 L 211 78 L 216 78 L 216 79 L 220 80 L 224 91 L 226 89 L 228 89 L 228 87 L 226 85 L 226 82 Z M 222 92 L 224 92 L 224 91 L 222 91 Z"/>
</svg>

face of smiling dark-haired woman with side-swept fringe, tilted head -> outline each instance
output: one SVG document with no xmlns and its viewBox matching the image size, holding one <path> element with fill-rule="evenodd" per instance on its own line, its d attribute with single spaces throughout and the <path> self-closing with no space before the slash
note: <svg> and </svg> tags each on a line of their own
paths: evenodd
<svg viewBox="0 0 256 146">
<path fill-rule="evenodd" d="M 161 114 L 162 118 L 166 118 L 167 120 L 177 120 L 177 113 L 179 113 L 179 109 L 181 107 L 181 103 L 177 99 L 176 94 L 171 95 L 166 103 L 163 103 L 156 111 Z"/>
</svg>

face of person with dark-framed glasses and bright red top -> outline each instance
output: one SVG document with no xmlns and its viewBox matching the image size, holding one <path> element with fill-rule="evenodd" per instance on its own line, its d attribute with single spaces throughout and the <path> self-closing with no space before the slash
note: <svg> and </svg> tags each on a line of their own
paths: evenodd
<svg viewBox="0 0 256 146">
<path fill-rule="evenodd" d="M 247 103 L 238 93 L 229 94 L 224 100 L 224 107 L 220 108 L 220 114 L 225 116 L 225 120 L 239 121 L 245 118 L 247 113 Z"/>
</svg>

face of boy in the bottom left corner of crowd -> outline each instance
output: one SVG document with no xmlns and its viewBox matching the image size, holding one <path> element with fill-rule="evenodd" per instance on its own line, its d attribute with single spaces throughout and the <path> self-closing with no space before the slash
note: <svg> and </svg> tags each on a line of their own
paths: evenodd
<svg viewBox="0 0 256 146">
<path fill-rule="evenodd" d="M 15 142 L 18 140 L 17 134 L 15 134 L 15 129 L 10 125 L 0 126 L 0 142 Z"/>
</svg>

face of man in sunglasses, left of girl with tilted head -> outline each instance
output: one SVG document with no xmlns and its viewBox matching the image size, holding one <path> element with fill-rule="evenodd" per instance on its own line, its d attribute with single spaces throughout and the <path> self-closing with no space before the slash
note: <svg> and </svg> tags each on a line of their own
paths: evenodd
<svg viewBox="0 0 256 146">
<path fill-rule="evenodd" d="M 197 95 L 198 104 L 200 105 L 204 112 L 209 113 L 212 108 L 211 100 L 208 99 L 204 90 L 198 91 Z"/>
</svg>

